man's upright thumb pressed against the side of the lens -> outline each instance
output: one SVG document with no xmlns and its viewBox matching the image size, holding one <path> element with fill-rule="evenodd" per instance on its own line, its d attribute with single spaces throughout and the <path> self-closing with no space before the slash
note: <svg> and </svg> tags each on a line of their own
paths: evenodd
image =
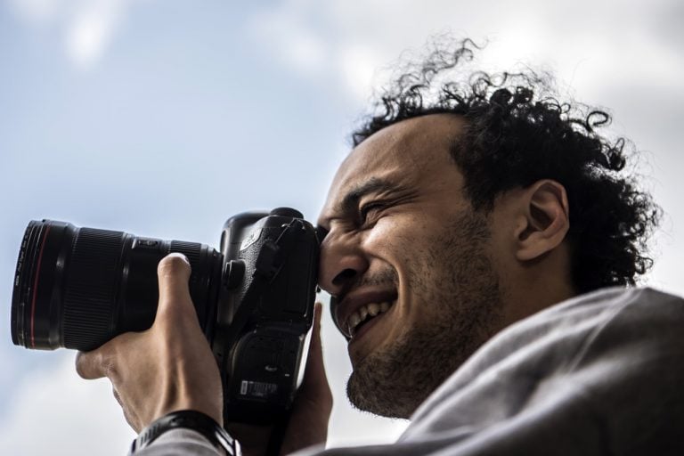
<svg viewBox="0 0 684 456">
<path fill-rule="evenodd" d="M 159 278 L 159 308 L 157 315 L 167 314 L 169 311 L 192 311 L 195 314 L 188 281 L 191 266 L 188 259 L 181 253 L 171 253 L 159 261 L 157 276 Z"/>
</svg>

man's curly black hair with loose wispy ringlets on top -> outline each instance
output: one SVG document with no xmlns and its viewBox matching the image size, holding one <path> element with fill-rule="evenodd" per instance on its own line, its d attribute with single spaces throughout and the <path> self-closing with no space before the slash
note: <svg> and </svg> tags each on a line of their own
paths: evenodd
<svg viewBox="0 0 684 456">
<path fill-rule="evenodd" d="M 661 209 L 625 172 L 631 142 L 603 133 L 611 122 L 605 110 L 558 101 L 546 73 L 470 71 L 458 81 L 444 80 L 481 49 L 469 39 L 455 46 L 437 43 L 427 59 L 404 69 L 379 95 L 373 113 L 352 134 L 354 146 L 407 118 L 462 116 L 467 130 L 451 153 L 476 210 L 491 211 L 502 192 L 540 179 L 558 181 L 570 205 L 575 289 L 634 285 L 653 264 L 647 240 Z"/>
</svg>

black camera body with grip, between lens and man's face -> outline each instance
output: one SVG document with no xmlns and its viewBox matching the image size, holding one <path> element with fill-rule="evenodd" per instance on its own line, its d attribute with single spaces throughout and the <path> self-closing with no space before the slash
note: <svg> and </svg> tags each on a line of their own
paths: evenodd
<svg viewBox="0 0 684 456">
<path fill-rule="evenodd" d="M 243 213 L 224 224 L 224 286 L 211 346 L 224 380 L 226 422 L 270 422 L 297 389 L 319 245 L 314 227 L 290 211 Z"/>
</svg>

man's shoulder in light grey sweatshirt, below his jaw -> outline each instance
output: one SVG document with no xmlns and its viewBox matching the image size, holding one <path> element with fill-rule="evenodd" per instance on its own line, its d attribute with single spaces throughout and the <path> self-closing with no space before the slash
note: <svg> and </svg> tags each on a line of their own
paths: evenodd
<svg viewBox="0 0 684 456">
<path fill-rule="evenodd" d="M 407 437 L 468 429 L 655 449 L 684 432 L 681 385 L 684 300 L 603 289 L 501 331 L 428 398 Z"/>
</svg>

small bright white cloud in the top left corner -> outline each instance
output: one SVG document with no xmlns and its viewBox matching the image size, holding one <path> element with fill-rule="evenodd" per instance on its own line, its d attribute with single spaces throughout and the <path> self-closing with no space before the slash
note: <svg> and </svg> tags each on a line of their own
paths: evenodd
<svg viewBox="0 0 684 456">
<path fill-rule="evenodd" d="M 138 0 L 140 1 L 140 0 Z M 135 0 L 12 0 L 29 25 L 57 28 L 64 53 L 77 68 L 92 68 L 107 51 Z"/>
</svg>

